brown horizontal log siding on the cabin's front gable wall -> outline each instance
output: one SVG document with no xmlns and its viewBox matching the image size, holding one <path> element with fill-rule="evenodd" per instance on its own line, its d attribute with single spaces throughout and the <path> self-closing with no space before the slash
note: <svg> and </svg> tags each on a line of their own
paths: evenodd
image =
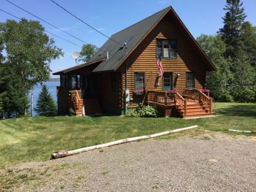
<svg viewBox="0 0 256 192">
<path fill-rule="evenodd" d="M 177 58 L 162 58 L 164 72 L 173 72 L 173 83 L 175 74 L 181 74 L 176 82 L 176 90 L 180 93 L 186 88 L 186 72 L 195 72 L 195 88 L 203 88 L 206 79 L 206 66 L 190 45 L 187 37 L 177 28 L 176 23 L 166 15 L 165 18 L 148 34 L 148 37 L 136 48 L 134 53 L 127 58 L 127 88 L 132 94 L 134 91 L 134 72 L 145 72 L 145 83 L 147 90 L 162 91 L 162 77 L 159 78 L 159 86 L 155 86 L 159 69 L 156 61 L 156 39 L 176 39 L 178 55 Z M 124 72 L 124 66 L 122 66 Z M 125 91 L 125 76 L 122 74 L 122 92 Z M 129 102 L 129 107 L 135 107 L 143 101 L 143 96 L 133 96 L 134 101 Z M 124 107 L 124 99 L 123 99 Z"/>
</svg>

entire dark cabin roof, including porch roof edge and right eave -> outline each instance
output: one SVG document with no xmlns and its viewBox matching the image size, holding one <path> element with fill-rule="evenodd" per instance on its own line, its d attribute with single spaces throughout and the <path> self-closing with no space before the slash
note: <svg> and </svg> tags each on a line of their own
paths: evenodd
<svg viewBox="0 0 256 192">
<path fill-rule="evenodd" d="M 116 42 L 119 42 L 121 45 L 118 45 L 116 42 L 112 41 L 111 39 L 108 39 L 108 41 L 105 42 L 105 44 L 99 48 L 97 53 L 95 53 L 86 64 L 77 66 L 75 67 L 75 69 L 90 64 L 98 64 L 98 61 L 102 61 L 94 69 L 93 72 L 116 71 L 116 69 L 118 69 L 118 67 L 124 63 L 126 58 L 133 52 L 133 50 L 135 50 L 135 48 L 138 45 L 140 45 L 140 42 L 143 41 L 147 34 L 151 32 L 154 26 L 156 26 L 157 23 L 159 23 L 159 21 L 162 20 L 162 18 L 167 14 L 167 12 L 170 12 L 171 15 L 173 15 L 176 22 L 181 27 L 181 31 L 184 31 L 184 34 L 187 34 L 189 40 L 192 42 L 195 48 L 197 48 L 197 53 L 199 53 L 203 60 L 206 61 L 208 69 L 214 70 L 214 64 L 211 63 L 206 53 L 204 53 L 201 47 L 197 44 L 194 37 L 192 37 L 192 34 L 189 33 L 186 26 L 184 26 L 184 23 L 182 23 L 180 18 L 178 18 L 178 15 L 176 14 L 172 7 L 162 9 L 154 15 L 151 15 L 148 18 L 140 20 L 138 23 L 135 23 L 132 26 L 124 28 L 116 34 L 113 34 L 110 38 L 115 40 Z M 125 46 L 124 43 L 126 43 Z M 109 55 L 108 59 L 106 59 L 107 52 Z M 54 74 L 59 74 L 59 72 L 56 72 Z"/>
</svg>

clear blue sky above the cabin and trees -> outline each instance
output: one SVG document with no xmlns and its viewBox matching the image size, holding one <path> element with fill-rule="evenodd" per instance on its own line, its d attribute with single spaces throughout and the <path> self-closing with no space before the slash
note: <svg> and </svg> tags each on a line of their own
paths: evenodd
<svg viewBox="0 0 256 192">
<path fill-rule="evenodd" d="M 60 9 L 50 0 L 35 1 L 35 0 L 10 0 L 23 9 L 37 15 L 39 18 L 47 20 L 55 26 L 58 26 L 69 34 L 72 34 L 84 42 L 91 43 L 100 47 L 107 40 L 106 37 L 98 34 L 93 29 L 81 23 L 76 18 L 73 18 L 67 12 Z M 86 21 L 97 30 L 106 34 L 108 37 L 123 28 L 126 28 L 144 18 L 154 14 L 155 12 L 172 6 L 178 16 L 189 29 L 193 37 L 198 37 L 200 34 L 213 35 L 222 28 L 222 17 L 225 15 L 225 0 L 55 0 L 64 8 L 74 13 L 78 18 Z M 256 1 L 244 0 L 244 9 L 247 15 L 246 20 L 256 26 Z M 27 18 L 29 20 L 38 20 L 26 12 L 14 7 L 5 0 L 0 0 L 0 8 L 12 13 L 19 18 Z M 0 22 L 5 22 L 7 19 L 14 19 L 10 15 L 0 11 Z M 72 45 L 69 42 L 53 37 L 56 45 L 64 52 L 64 57 L 51 62 L 50 68 L 53 72 L 61 69 L 66 69 L 70 66 L 77 65 L 71 54 L 75 51 L 80 51 L 83 42 L 78 41 L 62 31 L 49 26 L 47 23 L 40 22 L 45 30 L 60 37 L 68 39 L 77 45 Z"/>
</svg>

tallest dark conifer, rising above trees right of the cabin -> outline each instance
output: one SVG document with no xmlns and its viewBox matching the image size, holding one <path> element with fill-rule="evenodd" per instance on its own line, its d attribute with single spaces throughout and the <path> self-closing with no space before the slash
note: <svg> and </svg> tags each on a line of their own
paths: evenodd
<svg viewBox="0 0 256 192">
<path fill-rule="evenodd" d="M 227 0 L 225 5 L 225 17 L 223 17 L 223 28 L 219 29 L 219 34 L 226 44 L 226 58 L 234 58 L 241 49 L 241 27 L 246 15 L 243 3 L 240 0 Z"/>
</svg>

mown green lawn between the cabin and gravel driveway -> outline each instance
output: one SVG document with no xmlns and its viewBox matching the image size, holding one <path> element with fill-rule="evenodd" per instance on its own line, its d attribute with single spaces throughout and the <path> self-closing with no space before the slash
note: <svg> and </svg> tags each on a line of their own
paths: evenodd
<svg viewBox="0 0 256 192">
<path fill-rule="evenodd" d="M 256 131 L 256 104 L 216 103 L 217 117 L 181 118 L 54 117 L 0 120 L 0 168 L 45 161 L 58 150 L 72 150 L 127 137 L 198 125 L 200 129 Z"/>
</svg>

